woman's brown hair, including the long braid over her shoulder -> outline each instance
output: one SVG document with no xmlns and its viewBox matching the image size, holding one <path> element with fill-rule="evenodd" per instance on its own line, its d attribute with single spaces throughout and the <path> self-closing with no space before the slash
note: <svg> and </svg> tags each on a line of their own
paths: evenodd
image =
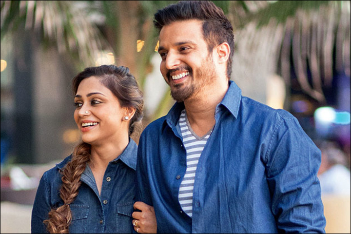
<svg viewBox="0 0 351 234">
<path fill-rule="evenodd" d="M 135 131 L 135 126 L 143 117 L 143 96 L 138 87 L 137 80 L 129 73 L 124 66 L 102 65 L 99 67 L 88 67 L 73 78 L 73 92 L 77 94 L 80 82 L 89 77 L 100 78 L 100 82 L 107 87 L 119 100 L 121 107 L 133 107 L 135 115 L 130 120 L 129 136 Z M 50 233 L 68 233 L 72 221 L 70 204 L 76 199 L 81 184 L 80 176 L 86 165 L 90 162 L 91 146 L 81 142 L 74 150 L 72 159 L 60 171 L 62 174 L 62 186 L 60 197 L 63 205 L 52 208 L 49 212 L 49 219 L 44 220 L 47 230 Z"/>
</svg>

